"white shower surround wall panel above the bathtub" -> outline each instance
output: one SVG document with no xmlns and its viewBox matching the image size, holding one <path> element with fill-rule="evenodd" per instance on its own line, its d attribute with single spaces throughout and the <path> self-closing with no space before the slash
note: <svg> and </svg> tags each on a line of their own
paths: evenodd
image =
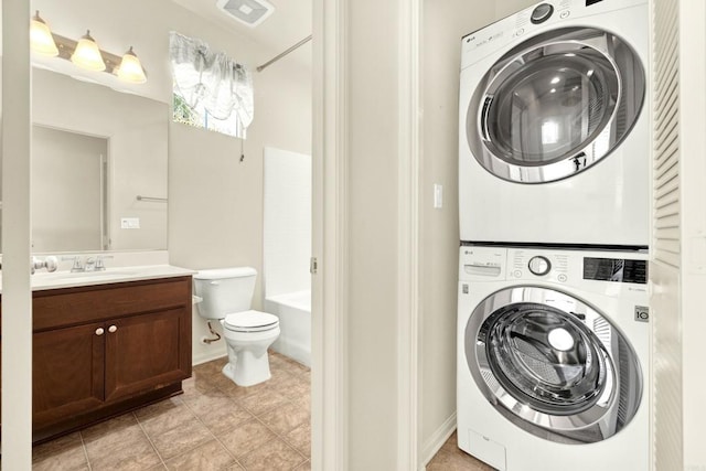
<svg viewBox="0 0 706 471">
<path fill-rule="evenodd" d="M 265 148 L 265 296 L 311 290 L 311 156 Z"/>
</svg>

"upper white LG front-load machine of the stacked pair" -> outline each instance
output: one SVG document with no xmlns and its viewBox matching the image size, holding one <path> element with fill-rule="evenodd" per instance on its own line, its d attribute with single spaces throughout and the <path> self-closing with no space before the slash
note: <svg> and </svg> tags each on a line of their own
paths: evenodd
<svg viewBox="0 0 706 471">
<path fill-rule="evenodd" d="M 548 0 L 462 40 L 460 236 L 646 247 L 648 0 Z"/>
</svg>

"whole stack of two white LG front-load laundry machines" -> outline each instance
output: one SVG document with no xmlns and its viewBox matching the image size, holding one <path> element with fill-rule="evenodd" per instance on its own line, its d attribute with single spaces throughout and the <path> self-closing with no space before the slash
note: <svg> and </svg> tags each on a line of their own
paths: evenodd
<svg viewBox="0 0 706 471">
<path fill-rule="evenodd" d="M 462 39 L 459 447 L 648 470 L 648 0 L 549 0 Z"/>
</svg>

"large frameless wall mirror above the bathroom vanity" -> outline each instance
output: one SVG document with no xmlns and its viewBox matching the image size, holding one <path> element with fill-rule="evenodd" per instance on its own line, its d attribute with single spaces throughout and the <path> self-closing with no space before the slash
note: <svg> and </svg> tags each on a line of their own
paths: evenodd
<svg viewBox="0 0 706 471">
<path fill-rule="evenodd" d="M 169 106 L 32 77 L 32 250 L 167 248 Z"/>
</svg>

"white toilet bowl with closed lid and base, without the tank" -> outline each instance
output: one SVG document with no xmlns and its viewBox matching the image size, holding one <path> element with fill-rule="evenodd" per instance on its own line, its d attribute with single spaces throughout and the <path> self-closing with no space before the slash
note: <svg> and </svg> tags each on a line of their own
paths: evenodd
<svg viewBox="0 0 706 471">
<path fill-rule="evenodd" d="M 236 312 L 221 320 L 228 345 L 223 374 L 238 386 L 253 386 L 270 378 L 267 349 L 279 336 L 279 319 L 260 311 Z"/>
</svg>

